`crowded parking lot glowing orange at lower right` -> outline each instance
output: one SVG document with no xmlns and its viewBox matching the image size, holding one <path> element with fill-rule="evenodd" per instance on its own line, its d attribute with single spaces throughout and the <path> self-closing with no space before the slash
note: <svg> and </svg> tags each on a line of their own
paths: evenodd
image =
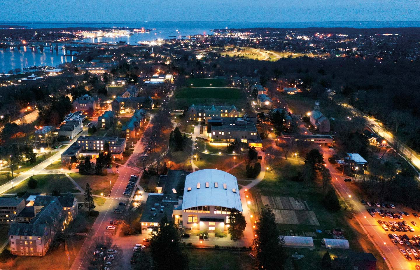
<svg viewBox="0 0 420 270">
<path fill-rule="evenodd" d="M 417 213 L 407 212 L 391 203 L 361 201 L 366 206 L 366 214 L 372 216 L 384 233 L 388 243 L 399 250 L 407 261 L 420 261 L 420 219 Z M 387 244 L 386 242 L 384 244 Z M 392 248 L 390 246 L 390 248 Z M 420 269 L 416 265 L 416 269 Z"/>
</svg>

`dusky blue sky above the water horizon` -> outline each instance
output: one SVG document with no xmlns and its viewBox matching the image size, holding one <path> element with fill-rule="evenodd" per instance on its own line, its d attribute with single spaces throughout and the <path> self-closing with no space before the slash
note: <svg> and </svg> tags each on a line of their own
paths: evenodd
<svg viewBox="0 0 420 270">
<path fill-rule="evenodd" d="M 0 0 L 0 21 L 419 21 L 420 0 Z"/>
</svg>

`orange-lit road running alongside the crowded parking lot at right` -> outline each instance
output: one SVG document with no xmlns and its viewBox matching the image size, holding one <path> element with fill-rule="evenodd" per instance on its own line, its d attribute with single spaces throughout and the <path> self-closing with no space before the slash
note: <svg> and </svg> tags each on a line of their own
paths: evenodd
<svg viewBox="0 0 420 270">
<path fill-rule="evenodd" d="M 324 154 L 324 159 L 327 160 L 330 156 L 332 156 L 331 151 L 328 151 L 328 148 L 323 147 L 321 149 Z M 370 214 L 366 210 L 366 206 L 360 203 L 361 198 L 357 196 L 356 193 L 353 193 L 352 189 L 349 188 L 350 185 L 353 185 L 353 182 L 344 182 L 344 178 L 341 173 L 337 172 L 336 169 L 327 161 L 327 168 L 331 172 L 332 176 L 332 183 L 336 191 L 342 196 L 343 199 L 349 199 L 353 204 L 354 208 L 354 216 L 359 224 L 362 226 L 363 230 L 367 234 L 368 238 L 373 242 L 376 249 L 381 253 L 382 257 L 385 258 L 385 262 L 388 264 L 390 269 L 394 270 L 407 270 L 407 269 L 415 269 L 415 263 L 407 262 L 402 254 L 399 252 L 399 249 L 407 249 L 407 246 L 394 246 L 390 239 L 388 238 L 388 233 L 396 233 L 396 234 L 404 234 L 402 232 L 385 232 L 383 228 L 378 224 L 377 220 L 387 220 L 381 218 L 378 215 L 376 217 L 371 217 Z M 349 195 L 351 198 L 349 198 Z M 366 198 L 365 198 L 366 199 Z M 369 207 L 369 206 L 368 206 Z M 373 206 L 372 206 L 373 207 Z M 375 207 L 378 208 L 378 207 Z M 399 209 L 396 209 L 399 210 Z M 412 216 L 410 216 L 412 218 Z M 407 219 L 407 218 L 406 218 Z M 411 221 L 414 219 L 409 219 Z M 419 220 L 417 218 L 417 223 Z M 407 233 L 407 235 L 411 236 L 415 233 Z M 377 263 L 383 263 L 378 261 Z"/>
</svg>

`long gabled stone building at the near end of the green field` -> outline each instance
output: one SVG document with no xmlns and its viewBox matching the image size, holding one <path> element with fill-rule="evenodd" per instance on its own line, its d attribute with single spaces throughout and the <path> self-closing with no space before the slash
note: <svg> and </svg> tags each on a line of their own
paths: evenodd
<svg viewBox="0 0 420 270">
<path fill-rule="evenodd" d="M 191 121 L 207 121 L 214 117 L 238 117 L 239 110 L 232 106 L 201 106 L 192 104 L 187 111 L 188 119 Z"/>
</svg>

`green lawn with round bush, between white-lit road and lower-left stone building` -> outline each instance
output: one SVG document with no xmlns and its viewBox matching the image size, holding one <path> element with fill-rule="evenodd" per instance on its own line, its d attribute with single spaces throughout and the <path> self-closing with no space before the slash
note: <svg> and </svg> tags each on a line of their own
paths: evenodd
<svg viewBox="0 0 420 270">
<path fill-rule="evenodd" d="M 60 193 L 65 192 L 79 192 L 76 187 L 71 183 L 71 181 L 64 174 L 47 174 L 47 175 L 35 175 L 35 180 L 38 181 L 36 188 L 28 188 L 29 178 L 24 180 L 19 185 L 15 186 L 12 189 L 9 189 L 7 193 L 20 193 L 20 192 L 30 192 L 30 193 L 51 193 L 54 190 L 59 190 Z"/>
</svg>

